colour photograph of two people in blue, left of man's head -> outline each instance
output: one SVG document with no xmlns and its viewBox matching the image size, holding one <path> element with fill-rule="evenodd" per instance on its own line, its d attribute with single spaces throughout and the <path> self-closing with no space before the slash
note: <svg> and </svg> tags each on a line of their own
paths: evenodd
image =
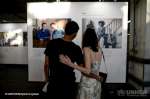
<svg viewBox="0 0 150 99">
<path fill-rule="evenodd" d="M 64 36 L 64 27 L 69 18 L 56 19 L 34 19 L 33 22 L 33 47 L 45 48 L 48 41 L 62 38 Z"/>
</svg>

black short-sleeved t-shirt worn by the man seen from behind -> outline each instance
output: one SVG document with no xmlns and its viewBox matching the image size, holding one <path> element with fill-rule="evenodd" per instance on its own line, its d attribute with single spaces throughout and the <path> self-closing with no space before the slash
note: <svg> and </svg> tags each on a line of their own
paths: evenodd
<svg viewBox="0 0 150 99">
<path fill-rule="evenodd" d="M 73 68 L 60 63 L 59 55 L 67 55 L 72 62 L 83 64 L 83 55 L 79 46 L 63 39 L 54 39 L 48 43 L 44 53 L 49 57 L 50 81 L 75 82 Z"/>
</svg>

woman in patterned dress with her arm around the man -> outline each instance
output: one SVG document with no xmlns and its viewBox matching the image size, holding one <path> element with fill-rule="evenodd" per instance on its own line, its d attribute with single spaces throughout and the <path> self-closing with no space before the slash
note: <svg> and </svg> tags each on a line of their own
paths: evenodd
<svg viewBox="0 0 150 99">
<path fill-rule="evenodd" d="M 81 81 L 79 84 L 79 99 L 100 99 L 101 98 L 101 83 L 98 79 L 89 77 L 90 73 L 99 75 L 102 53 L 98 44 L 96 32 L 92 28 L 87 28 L 82 40 L 82 49 L 84 54 L 84 67 L 78 66 L 71 62 L 70 58 L 65 55 L 60 55 L 60 61 L 74 69 L 82 72 Z"/>
</svg>

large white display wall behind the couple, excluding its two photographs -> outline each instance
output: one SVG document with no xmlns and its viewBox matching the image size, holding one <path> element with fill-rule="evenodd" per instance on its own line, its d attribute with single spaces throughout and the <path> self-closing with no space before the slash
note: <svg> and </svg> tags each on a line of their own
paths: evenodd
<svg viewBox="0 0 150 99">
<path fill-rule="evenodd" d="M 52 5 L 51 5 L 52 4 Z M 82 38 L 82 18 L 122 18 L 122 48 L 121 49 L 104 49 L 106 64 L 108 66 L 108 82 L 124 83 L 126 82 L 126 49 L 127 49 L 127 10 L 128 4 L 124 2 L 73 2 L 68 6 L 60 6 L 55 3 L 28 3 L 28 62 L 29 62 L 29 81 L 44 80 L 44 48 L 33 48 L 32 43 L 32 23 L 34 18 L 72 18 L 77 21 L 80 30 L 76 41 L 81 42 Z M 54 6 L 55 5 L 55 6 Z M 40 6 L 40 7 L 39 7 Z M 53 8 L 54 7 L 54 8 Z M 67 10 L 66 10 L 66 7 Z M 34 10 L 35 9 L 35 10 Z M 45 10 L 44 10 L 45 9 Z M 62 10 L 63 9 L 63 10 Z M 66 12 L 63 13 L 63 11 Z M 103 64 L 102 64 L 103 65 Z"/>
</svg>

